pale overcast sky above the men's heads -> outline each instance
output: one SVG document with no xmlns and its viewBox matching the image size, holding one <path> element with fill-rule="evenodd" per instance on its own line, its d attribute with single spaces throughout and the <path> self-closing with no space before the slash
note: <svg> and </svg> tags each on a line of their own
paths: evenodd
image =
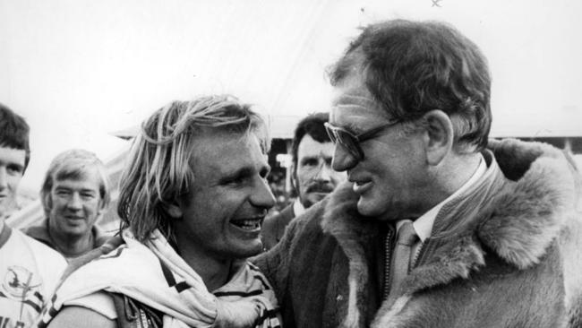
<svg viewBox="0 0 582 328">
<path fill-rule="evenodd" d="M 0 0 L 0 102 L 30 123 L 37 190 L 56 153 L 107 160 L 124 145 L 108 133 L 172 99 L 233 93 L 273 126 L 327 110 L 325 68 L 358 26 L 435 19 L 489 59 L 492 134 L 581 135 L 581 14 L 577 0 Z"/>
</svg>

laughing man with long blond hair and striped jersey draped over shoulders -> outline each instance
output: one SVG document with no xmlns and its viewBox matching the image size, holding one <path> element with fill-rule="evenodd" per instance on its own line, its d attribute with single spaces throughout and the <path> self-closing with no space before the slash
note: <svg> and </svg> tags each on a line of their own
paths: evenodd
<svg viewBox="0 0 582 328">
<path fill-rule="evenodd" d="M 269 283 L 245 261 L 261 252 L 274 204 L 269 144 L 261 117 L 233 97 L 158 109 L 121 179 L 121 238 L 71 270 L 41 326 L 278 326 Z"/>
</svg>

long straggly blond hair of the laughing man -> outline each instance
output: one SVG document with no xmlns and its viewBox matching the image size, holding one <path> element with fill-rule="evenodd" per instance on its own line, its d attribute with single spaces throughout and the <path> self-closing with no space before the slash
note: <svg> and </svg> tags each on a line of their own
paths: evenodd
<svg viewBox="0 0 582 328">
<path fill-rule="evenodd" d="M 121 177 L 117 212 L 122 229 L 129 227 L 140 241 L 155 229 L 174 239 L 167 205 L 175 204 L 195 183 L 193 144 L 209 131 L 254 134 L 263 153 L 270 149 L 262 117 L 233 96 L 173 101 L 159 108 L 141 125 Z"/>
</svg>

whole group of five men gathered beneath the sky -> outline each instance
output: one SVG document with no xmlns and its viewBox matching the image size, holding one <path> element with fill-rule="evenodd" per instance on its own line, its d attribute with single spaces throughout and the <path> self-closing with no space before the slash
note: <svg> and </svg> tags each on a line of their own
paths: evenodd
<svg viewBox="0 0 582 328">
<path fill-rule="evenodd" d="M 29 126 L 0 106 L 0 327 L 582 327 L 568 154 L 492 140 L 481 50 L 443 22 L 367 26 L 295 128 L 296 200 L 267 217 L 270 132 L 229 95 L 141 125 L 122 227 L 103 163 L 64 151 L 45 220 L 12 229 Z"/>
</svg>

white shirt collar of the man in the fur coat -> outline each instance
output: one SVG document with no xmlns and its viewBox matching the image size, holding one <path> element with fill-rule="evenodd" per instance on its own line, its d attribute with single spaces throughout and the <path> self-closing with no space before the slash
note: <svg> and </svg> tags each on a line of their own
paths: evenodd
<svg viewBox="0 0 582 328">
<path fill-rule="evenodd" d="M 434 220 L 436 219 L 437 214 L 439 214 L 439 211 L 441 211 L 442 206 L 444 206 L 446 203 L 449 203 L 459 194 L 465 192 L 470 186 L 475 185 L 475 183 L 479 181 L 479 178 L 483 177 L 485 171 L 487 171 L 487 164 L 485 163 L 483 155 L 479 154 L 479 157 L 480 157 L 479 165 L 475 169 L 475 173 L 473 173 L 473 176 L 466 180 L 466 183 L 463 186 L 458 188 L 456 192 L 450 194 L 449 197 L 447 197 L 444 201 L 436 204 L 434 207 L 432 207 L 432 209 L 425 212 L 422 216 L 420 216 L 412 223 L 416 235 L 418 235 L 419 238 L 415 245 L 412 246 L 411 254 L 413 258 L 416 257 L 417 255 L 416 253 L 420 250 L 420 246 L 424 243 L 424 240 L 426 240 L 428 237 L 431 237 L 432 225 L 434 224 Z M 398 221 L 396 224 L 397 231 L 398 229 L 400 229 L 401 226 L 402 220 Z"/>
</svg>

